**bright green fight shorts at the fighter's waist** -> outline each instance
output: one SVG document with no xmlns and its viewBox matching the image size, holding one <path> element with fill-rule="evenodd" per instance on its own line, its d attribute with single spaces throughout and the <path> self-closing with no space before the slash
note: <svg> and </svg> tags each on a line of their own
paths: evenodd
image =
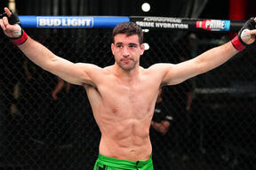
<svg viewBox="0 0 256 170">
<path fill-rule="evenodd" d="M 109 158 L 99 154 L 93 170 L 154 170 L 152 156 L 148 160 L 132 162 L 118 158 Z"/>
</svg>

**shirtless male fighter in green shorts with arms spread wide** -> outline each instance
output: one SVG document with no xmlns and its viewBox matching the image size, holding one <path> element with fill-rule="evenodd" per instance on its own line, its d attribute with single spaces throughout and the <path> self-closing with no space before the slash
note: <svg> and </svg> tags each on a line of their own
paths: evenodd
<svg viewBox="0 0 256 170">
<path fill-rule="evenodd" d="M 256 19 L 249 19 L 230 42 L 180 64 L 143 68 L 145 47 L 141 28 L 133 22 L 113 30 L 115 64 L 101 68 L 72 63 L 30 38 L 8 8 L 0 19 L 4 34 L 36 65 L 61 79 L 84 86 L 100 128 L 100 154 L 94 170 L 153 169 L 149 127 L 160 87 L 174 85 L 225 63 L 255 40 Z M 10 21 L 12 21 L 10 24 Z"/>
</svg>

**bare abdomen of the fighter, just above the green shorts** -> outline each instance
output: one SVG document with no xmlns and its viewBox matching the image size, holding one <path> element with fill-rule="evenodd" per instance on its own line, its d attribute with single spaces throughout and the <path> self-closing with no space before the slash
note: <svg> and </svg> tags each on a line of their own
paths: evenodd
<svg viewBox="0 0 256 170">
<path fill-rule="evenodd" d="M 147 160 L 152 148 L 149 126 L 145 120 L 113 121 L 100 127 L 100 154 L 110 158 L 131 161 Z M 102 124 L 101 124 L 102 125 Z"/>
</svg>

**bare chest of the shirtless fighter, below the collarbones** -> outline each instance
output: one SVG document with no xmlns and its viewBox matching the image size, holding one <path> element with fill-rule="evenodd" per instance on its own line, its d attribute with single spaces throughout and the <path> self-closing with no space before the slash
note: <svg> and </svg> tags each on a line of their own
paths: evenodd
<svg viewBox="0 0 256 170">
<path fill-rule="evenodd" d="M 133 84 L 109 81 L 99 86 L 97 102 L 108 114 L 143 117 L 144 114 L 153 112 L 158 88 L 158 84 L 154 81 L 140 81 Z"/>
</svg>

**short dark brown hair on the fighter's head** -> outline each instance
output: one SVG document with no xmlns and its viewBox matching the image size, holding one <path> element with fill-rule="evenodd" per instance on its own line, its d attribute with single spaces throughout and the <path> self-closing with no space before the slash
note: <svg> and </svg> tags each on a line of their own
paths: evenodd
<svg viewBox="0 0 256 170">
<path fill-rule="evenodd" d="M 119 23 L 112 32 L 112 42 L 114 43 L 114 36 L 118 34 L 124 34 L 127 36 L 138 35 L 140 44 L 143 43 L 143 32 L 140 26 L 135 22 L 121 22 Z"/>
</svg>

